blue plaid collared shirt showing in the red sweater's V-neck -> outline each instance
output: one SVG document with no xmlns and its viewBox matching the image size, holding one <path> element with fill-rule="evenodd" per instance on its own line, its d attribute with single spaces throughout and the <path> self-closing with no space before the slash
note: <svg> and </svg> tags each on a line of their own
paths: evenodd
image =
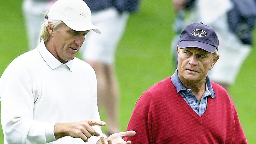
<svg viewBox="0 0 256 144">
<path fill-rule="evenodd" d="M 182 98 L 187 102 L 187 104 L 200 116 L 202 116 L 206 110 L 208 96 L 215 98 L 213 87 L 211 86 L 211 80 L 208 75 L 205 80 L 205 93 L 203 94 L 200 103 L 193 94 L 192 90 L 187 89 L 182 85 L 181 80 L 178 77 L 178 69 L 176 69 L 175 73 L 171 76 L 171 81 L 177 89 L 177 93 L 181 94 Z"/>
</svg>

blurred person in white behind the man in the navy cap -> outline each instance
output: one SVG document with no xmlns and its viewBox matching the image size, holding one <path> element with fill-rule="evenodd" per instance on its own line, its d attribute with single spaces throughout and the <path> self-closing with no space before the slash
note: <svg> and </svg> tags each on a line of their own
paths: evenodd
<svg viewBox="0 0 256 144">
<path fill-rule="evenodd" d="M 222 57 L 214 69 L 209 71 L 209 76 L 213 82 L 229 90 L 251 50 L 251 33 L 256 17 L 255 1 L 172 0 L 172 3 L 177 11 L 174 22 L 176 36 L 171 44 L 175 59 L 179 34 L 186 24 L 203 22 L 212 26 L 219 37 L 219 54 Z M 177 60 L 175 63 L 177 66 Z"/>
</svg>

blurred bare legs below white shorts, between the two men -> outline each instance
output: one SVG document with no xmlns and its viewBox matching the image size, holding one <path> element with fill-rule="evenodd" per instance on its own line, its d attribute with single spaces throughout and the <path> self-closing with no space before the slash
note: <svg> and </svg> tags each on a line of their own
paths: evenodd
<svg viewBox="0 0 256 144">
<path fill-rule="evenodd" d="M 94 68 L 98 83 L 98 105 L 106 111 L 107 133 L 119 132 L 119 91 L 113 65 L 101 62 L 88 63 Z"/>
</svg>

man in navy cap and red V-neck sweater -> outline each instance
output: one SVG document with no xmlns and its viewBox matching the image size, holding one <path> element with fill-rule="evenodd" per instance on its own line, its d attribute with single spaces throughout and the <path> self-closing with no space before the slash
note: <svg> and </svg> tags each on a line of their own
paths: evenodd
<svg viewBox="0 0 256 144">
<path fill-rule="evenodd" d="M 133 143 L 248 143 L 226 90 L 207 73 L 219 59 L 214 29 L 192 23 L 181 32 L 175 73 L 138 99 L 127 130 Z"/>
</svg>

